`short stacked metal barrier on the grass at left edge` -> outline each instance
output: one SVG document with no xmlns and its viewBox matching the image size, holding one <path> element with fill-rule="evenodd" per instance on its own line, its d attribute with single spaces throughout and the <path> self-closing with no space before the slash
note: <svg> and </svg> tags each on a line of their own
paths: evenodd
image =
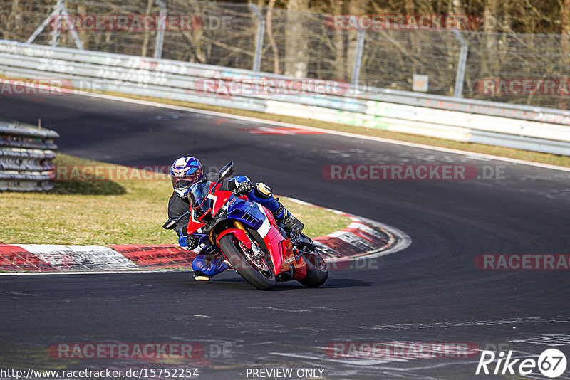
<svg viewBox="0 0 570 380">
<path fill-rule="evenodd" d="M 53 189 L 57 137 L 52 130 L 0 120 L 0 191 Z"/>
</svg>

